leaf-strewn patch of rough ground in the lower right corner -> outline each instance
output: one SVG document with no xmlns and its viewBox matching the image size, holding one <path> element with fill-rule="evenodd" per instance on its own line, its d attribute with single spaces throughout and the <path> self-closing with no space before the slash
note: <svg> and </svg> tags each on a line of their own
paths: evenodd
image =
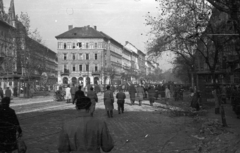
<svg viewBox="0 0 240 153">
<path fill-rule="evenodd" d="M 235 153 L 240 152 L 240 136 L 222 127 L 218 119 L 198 117 L 196 122 L 201 122 L 198 133 L 191 135 L 199 140 L 195 145 L 196 152 Z"/>
</svg>

